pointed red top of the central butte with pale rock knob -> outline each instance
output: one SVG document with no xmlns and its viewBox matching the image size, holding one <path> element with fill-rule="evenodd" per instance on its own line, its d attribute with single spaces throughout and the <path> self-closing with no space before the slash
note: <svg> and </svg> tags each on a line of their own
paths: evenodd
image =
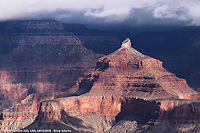
<svg viewBox="0 0 200 133">
<path fill-rule="evenodd" d="M 162 67 L 162 62 L 144 55 L 131 47 L 131 40 L 127 38 L 122 42 L 121 48 L 115 52 L 100 58 L 100 62 L 108 61 L 109 67 L 120 68 L 141 68 L 141 67 Z"/>
</svg>

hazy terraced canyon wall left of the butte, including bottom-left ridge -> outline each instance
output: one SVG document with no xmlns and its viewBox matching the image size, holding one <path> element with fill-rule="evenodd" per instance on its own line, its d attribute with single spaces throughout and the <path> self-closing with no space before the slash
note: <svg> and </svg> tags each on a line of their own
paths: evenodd
<svg viewBox="0 0 200 133">
<path fill-rule="evenodd" d="M 7 22 L 0 30 L 2 130 L 29 125 L 41 101 L 74 94 L 77 78 L 103 56 L 57 21 Z"/>
</svg>

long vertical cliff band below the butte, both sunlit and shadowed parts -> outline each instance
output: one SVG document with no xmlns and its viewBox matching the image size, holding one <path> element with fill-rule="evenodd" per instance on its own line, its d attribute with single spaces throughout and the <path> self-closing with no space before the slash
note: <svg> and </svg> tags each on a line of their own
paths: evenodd
<svg viewBox="0 0 200 133">
<path fill-rule="evenodd" d="M 67 105 L 65 105 L 67 104 Z M 200 119 L 194 100 L 143 100 L 121 96 L 78 96 L 41 103 L 38 120 L 60 121 L 65 115 L 98 114 L 113 120 L 137 114 L 145 119 Z"/>
</svg>

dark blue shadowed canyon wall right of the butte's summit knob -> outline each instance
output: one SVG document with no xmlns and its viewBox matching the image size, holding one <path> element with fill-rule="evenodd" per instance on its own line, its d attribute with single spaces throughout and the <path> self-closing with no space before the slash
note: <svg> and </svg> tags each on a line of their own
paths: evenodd
<svg viewBox="0 0 200 133">
<path fill-rule="evenodd" d="M 199 27 L 143 32 L 133 38 L 135 48 L 162 60 L 167 70 L 187 79 L 190 87 L 200 88 Z"/>
</svg>

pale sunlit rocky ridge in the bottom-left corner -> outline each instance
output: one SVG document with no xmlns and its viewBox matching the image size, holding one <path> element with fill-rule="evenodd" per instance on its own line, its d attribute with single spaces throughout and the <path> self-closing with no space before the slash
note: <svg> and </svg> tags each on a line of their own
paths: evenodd
<svg viewBox="0 0 200 133">
<path fill-rule="evenodd" d="M 59 97 L 68 97 L 69 93 L 57 92 L 46 94 L 31 94 L 20 103 L 3 110 L 1 113 L 1 131 L 19 130 L 30 125 L 38 116 L 40 103 L 45 100 L 53 100 Z"/>
</svg>

